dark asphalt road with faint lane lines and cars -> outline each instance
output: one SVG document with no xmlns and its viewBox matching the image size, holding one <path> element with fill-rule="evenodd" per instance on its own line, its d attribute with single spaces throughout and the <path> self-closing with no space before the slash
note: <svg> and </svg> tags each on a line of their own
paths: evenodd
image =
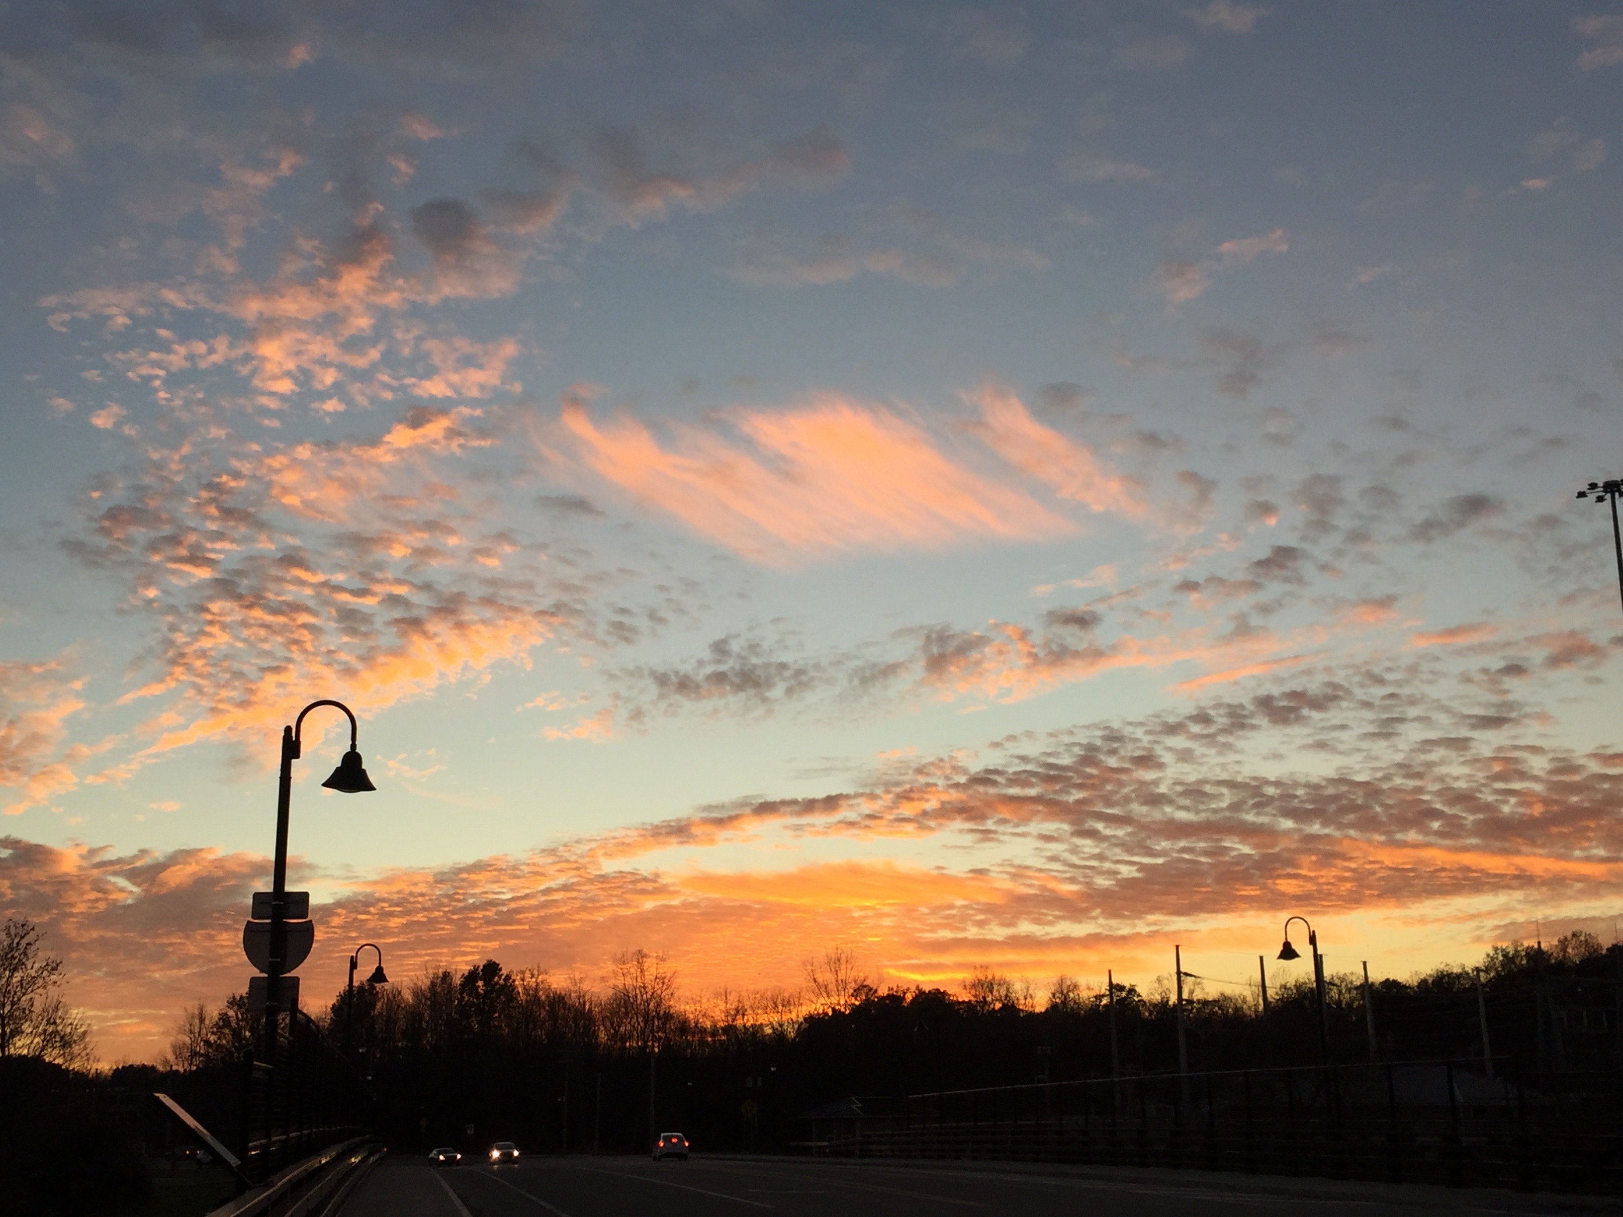
<svg viewBox="0 0 1623 1217">
<path fill-rule="evenodd" d="M 342 1217 L 1409 1217 L 1605 1212 L 1586 1199 L 1193 1172 L 808 1159 L 547 1157 L 435 1170 L 391 1157 Z M 1610 1209 L 1615 1212 L 1615 1209 Z"/>
</svg>

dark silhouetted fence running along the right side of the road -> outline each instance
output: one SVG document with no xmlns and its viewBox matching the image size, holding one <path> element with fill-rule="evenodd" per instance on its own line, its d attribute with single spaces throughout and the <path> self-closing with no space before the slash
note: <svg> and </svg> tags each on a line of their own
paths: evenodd
<svg viewBox="0 0 1623 1217">
<path fill-rule="evenodd" d="M 1623 1194 L 1623 1074 L 1511 1061 L 1154 1074 L 951 1090 L 815 1120 L 839 1157 L 979 1157 Z M 1505 1068 L 1511 1066 L 1511 1068 Z"/>
</svg>

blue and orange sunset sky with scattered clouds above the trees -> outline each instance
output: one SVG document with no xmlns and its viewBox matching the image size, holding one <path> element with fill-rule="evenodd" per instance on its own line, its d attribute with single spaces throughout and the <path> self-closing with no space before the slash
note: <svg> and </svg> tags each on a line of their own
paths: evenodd
<svg viewBox="0 0 1623 1217">
<path fill-rule="evenodd" d="M 1600 0 L 0 6 L 0 909 L 151 1058 L 339 698 L 307 1004 L 1612 941 L 1620 123 Z"/>
</svg>

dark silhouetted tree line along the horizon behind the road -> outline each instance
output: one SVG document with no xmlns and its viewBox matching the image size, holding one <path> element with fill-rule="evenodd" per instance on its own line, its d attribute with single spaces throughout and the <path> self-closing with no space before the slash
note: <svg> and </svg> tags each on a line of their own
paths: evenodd
<svg viewBox="0 0 1623 1217">
<path fill-rule="evenodd" d="M 644 1149 L 670 1128 L 706 1147 L 773 1149 L 800 1113 L 846 1095 L 1060 1082 L 1180 1068 L 1316 1064 L 1313 982 L 1261 987 L 1183 974 L 1147 990 L 1057 977 L 1045 991 L 987 969 L 958 990 L 875 985 L 847 949 L 805 964 L 799 990 L 683 995 L 635 951 L 602 983 L 485 961 L 399 985 L 357 985 L 312 1017 L 368 1079 L 394 1144 L 518 1141 L 536 1150 Z M 1337 1063 L 1492 1055 L 1522 1069 L 1623 1064 L 1623 948 L 1584 931 L 1495 946 L 1474 967 L 1365 985 L 1331 974 Z M 245 1001 L 196 1006 L 166 1064 L 219 1066 L 255 1042 Z M 1503 1068 L 1503 1066 L 1501 1066 Z M 474 1133 L 466 1133 L 467 1126 Z"/>
</svg>

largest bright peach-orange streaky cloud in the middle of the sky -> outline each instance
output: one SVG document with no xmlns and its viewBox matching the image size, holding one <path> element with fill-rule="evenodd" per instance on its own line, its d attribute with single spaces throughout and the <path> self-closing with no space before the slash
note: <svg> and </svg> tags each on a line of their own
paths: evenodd
<svg viewBox="0 0 1623 1217">
<path fill-rule="evenodd" d="M 834 394 L 737 414 L 747 445 L 680 427 L 662 448 L 633 419 L 596 424 L 573 396 L 562 419 L 596 474 L 766 565 L 1074 531 L 1024 492 L 956 464 L 901 415 Z"/>
</svg>

